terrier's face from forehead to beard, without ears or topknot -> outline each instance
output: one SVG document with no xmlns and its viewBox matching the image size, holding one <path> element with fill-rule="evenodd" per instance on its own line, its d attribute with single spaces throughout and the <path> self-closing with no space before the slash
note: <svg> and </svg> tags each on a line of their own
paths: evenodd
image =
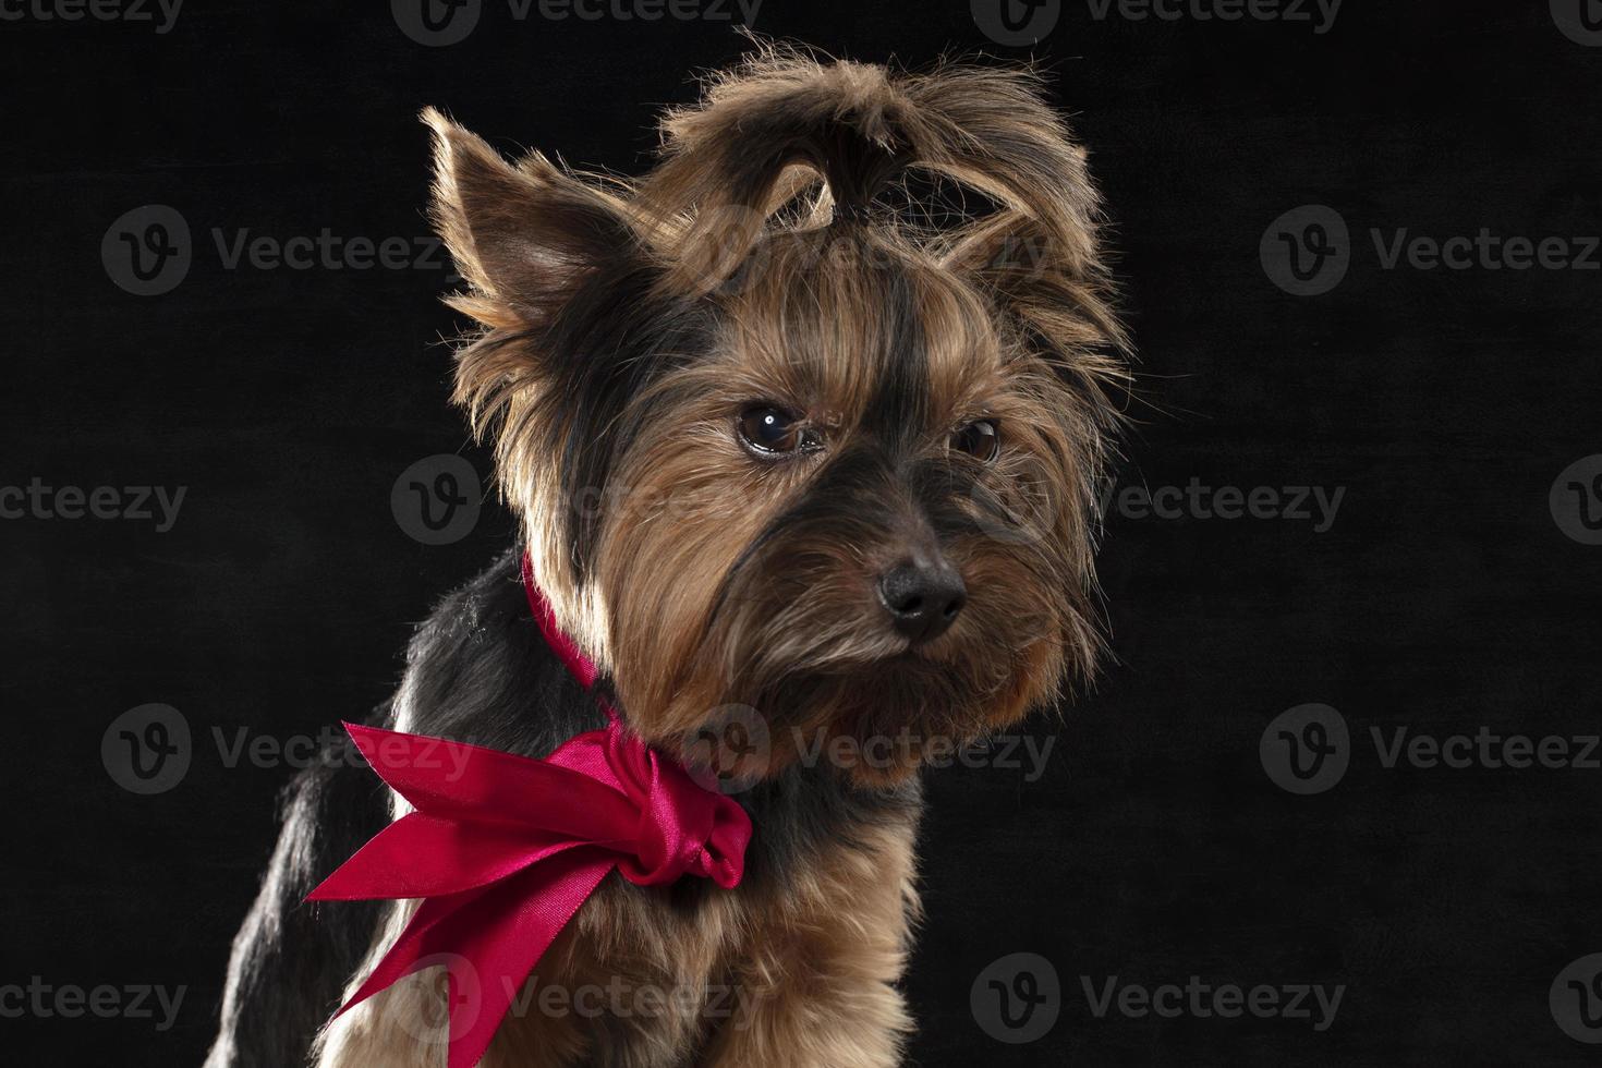
<svg viewBox="0 0 1602 1068">
<path fill-rule="evenodd" d="M 879 740 L 859 773 L 905 770 L 1089 653 L 1075 399 L 972 283 L 871 232 L 759 259 L 622 444 L 596 552 L 612 671 L 655 738 L 739 705 L 775 764 L 846 737 Z"/>
</svg>

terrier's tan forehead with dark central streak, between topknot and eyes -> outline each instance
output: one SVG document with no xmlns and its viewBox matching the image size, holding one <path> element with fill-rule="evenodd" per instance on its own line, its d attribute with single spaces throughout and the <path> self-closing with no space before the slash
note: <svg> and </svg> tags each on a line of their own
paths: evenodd
<svg viewBox="0 0 1602 1068">
<path fill-rule="evenodd" d="M 774 255 L 731 312 L 729 359 L 742 378 L 823 421 L 945 421 L 1001 373 L 985 301 L 886 245 Z"/>
</svg>

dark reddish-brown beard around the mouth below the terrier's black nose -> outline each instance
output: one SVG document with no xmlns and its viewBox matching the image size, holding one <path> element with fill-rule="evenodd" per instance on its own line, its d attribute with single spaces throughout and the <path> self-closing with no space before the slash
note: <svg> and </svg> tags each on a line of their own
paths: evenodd
<svg viewBox="0 0 1602 1068">
<path fill-rule="evenodd" d="M 860 592 L 742 586 L 714 615 L 695 656 L 700 677 L 681 693 L 718 709 L 692 740 L 721 745 L 739 722 L 747 749 L 761 749 L 755 777 L 801 762 L 860 785 L 896 783 L 1019 719 L 1054 692 L 1064 663 L 1053 605 L 1003 610 L 1003 591 L 976 596 L 952 631 L 912 645 Z M 723 756 L 739 761 L 740 746 Z M 747 762 L 735 773 L 751 772 Z"/>
</svg>

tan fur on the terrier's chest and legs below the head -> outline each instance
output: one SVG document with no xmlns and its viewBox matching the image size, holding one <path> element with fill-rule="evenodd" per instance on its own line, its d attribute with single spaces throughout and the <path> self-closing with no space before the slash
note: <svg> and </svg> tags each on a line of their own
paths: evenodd
<svg viewBox="0 0 1602 1068">
<path fill-rule="evenodd" d="M 912 1031 L 896 982 L 918 914 L 913 881 L 907 825 L 817 857 L 799 884 L 716 893 L 694 913 L 609 876 L 540 961 L 481 1068 L 896 1065 Z M 412 911 L 410 903 L 389 909 L 357 978 Z M 549 985 L 620 986 L 638 1015 L 599 1025 L 569 1002 L 546 1010 L 540 990 Z M 586 1012 L 598 1004 L 606 1002 L 591 999 Z M 413 974 L 332 1022 L 314 1063 L 439 1068 L 445 1006 L 444 967 Z"/>
</svg>

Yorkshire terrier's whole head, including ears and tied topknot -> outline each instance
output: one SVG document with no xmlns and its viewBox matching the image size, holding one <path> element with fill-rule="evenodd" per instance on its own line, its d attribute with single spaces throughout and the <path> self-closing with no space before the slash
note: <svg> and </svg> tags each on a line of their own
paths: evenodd
<svg viewBox="0 0 1602 1068">
<path fill-rule="evenodd" d="M 894 778 L 1091 669 L 1121 335 L 1033 75 L 769 48 L 633 183 L 426 118 L 458 399 L 647 741 L 740 706 Z"/>
</svg>

